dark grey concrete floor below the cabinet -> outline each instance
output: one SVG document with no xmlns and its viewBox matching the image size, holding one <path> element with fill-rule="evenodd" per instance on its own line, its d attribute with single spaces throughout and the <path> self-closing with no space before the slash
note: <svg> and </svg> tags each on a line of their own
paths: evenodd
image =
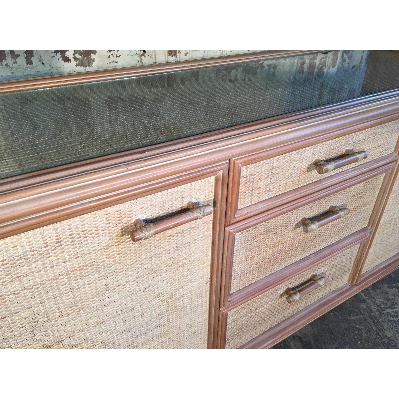
<svg viewBox="0 0 399 399">
<path fill-rule="evenodd" d="M 273 349 L 398 349 L 399 269 Z"/>
</svg>

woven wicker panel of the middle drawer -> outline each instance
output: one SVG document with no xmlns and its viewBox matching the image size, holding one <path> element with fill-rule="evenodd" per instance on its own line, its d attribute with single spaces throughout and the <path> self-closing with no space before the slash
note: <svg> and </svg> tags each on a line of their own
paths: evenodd
<svg viewBox="0 0 399 399">
<path fill-rule="evenodd" d="M 382 180 L 383 175 L 376 176 L 237 233 L 231 292 L 366 227 Z M 302 217 L 319 215 L 330 205 L 347 205 L 350 213 L 310 233 L 297 225 Z"/>
</svg>

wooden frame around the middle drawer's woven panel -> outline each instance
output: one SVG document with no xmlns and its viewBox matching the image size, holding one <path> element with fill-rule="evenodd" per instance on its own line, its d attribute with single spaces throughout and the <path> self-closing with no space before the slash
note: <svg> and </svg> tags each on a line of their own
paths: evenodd
<svg viewBox="0 0 399 399">
<path fill-rule="evenodd" d="M 224 244 L 223 244 L 223 246 L 224 246 L 223 254 L 224 255 L 223 255 L 222 280 L 221 280 L 221 282 L 222 282 L 221 303 L 220 303 L 221 308 L 231 310 L 231 308 L 236 307 L 239 304 L 243 304 L 244 302 L 247 302 L 248 300 L 259 295 L 260 293 L 265 292 L 266 290 L 272 288 L 272 286 L 275 286 L 274 280 L 276 280 L 276 282 L 280 283 L 284 280 L 290 279 L 294 275 L 302 273 L 302 271 L 305 271 L 312 266 L 312 262 L 311 262 L 310 258 L 307 259 L 308 257 L 306 257 L 304 259 L 301 259 L 301 260 L 293 263 L 290 266 L 287 266 L 286 268 L 289 268 L 289 269 L 287 269 L 286 271 L 281 269 L 280 271 L 277 271 L 271 275 L 268 275 L 268 276 L 264 277 L 263 279 L 260 279 L 257 282 L 250 284 L 249 286 L 241 288 L 237 292 L 231 293 L 231 277 L 232 277 L 232 272 L 233 272 L 234 241 L 235 241 L 235 235 L 237 233 L 244 231 L 246 229 L 249 229 L 250 227 L 253 227 L 255 225 L 259 225 L 267 220 L 278 217 L 284 213 L 290 212 L 293 209 L 298 209 L 304 205 L 307 205 L 307 204 L 315 202 L 319 199 L 322 199 L 322 198 L 325 198 L 332 194 L 335 194 L 336 192 L 345 190 L 346 188 L 352 187 L 352 186 L 359 184 L 365 180 L 368 180 L 374 176 L 389 172 L 394 167 L 395 167 L 395 160 L 393 160 L 389 163 L 379 162 L 378 167 L 372 168 L 371 170 L 368 170 L 367 172 L 364 172 L 362 174 L 357 174 L 356 176 L 354 176 L 350 179 L 342 180 L 338 184 L 335 184 L 334 186 L 327 187 L 324 190 L 320 190 L 316 193 L 306 194 L 304 196 L 298 196 L 297 198 L 293 199 L 289 203 L 279 204 L 278 206 L 274 207 L 273 209 L 263 211 L 262 213 L 259 213 L 253 217 L 249 217 L 248 219 L 245 219 L 243 221 L 239 221 L 232 225 L 227 226 L 225 228 L 225 239 L 224 239 Z M 384 190 L 383 185 L 381 185 L 379 193 L 381 193 L 382 190 Z M 374 217 L 374 215 L 371 214 L 370 219 L 372 219 L 373 217 Z M 369 231 L 368 228 L 366 230 Z M 359 231 L 359 232 L 361 232 L 361 231 Z M 367 233 L 367 236 L 368 235 L 369 234 Z M 365 238 L 367 238 L 367 237 L 363 237 L 363 239 L 365 239 Z M 352 239 L 351 236 L 346 237 L 346 239 L 344 239 L 343 243 L 345 243 L 346 240 L 350 241 L 350 239 Z M 339 241 L 337 243 L 339 243 Z M 335 245 L 337 245 L 337 243 L 334 243 L 331 246 L 328 246 L 328 247 L 322 249 L 321 250 L 322 252 L 318 251 L 318 252 L 320 252 L 320 254 L 318 254 L 320 256 L 320 258 L 322 258 L 323 256 L 328 256 L 330 250 L 334 251 L 334 247 L 335 247 Z M 295 272 L 294 274 L 292 274 L 292 272 L 290 271 L 291 269 L 292 269 L 292 271 Z"/>
</svg>

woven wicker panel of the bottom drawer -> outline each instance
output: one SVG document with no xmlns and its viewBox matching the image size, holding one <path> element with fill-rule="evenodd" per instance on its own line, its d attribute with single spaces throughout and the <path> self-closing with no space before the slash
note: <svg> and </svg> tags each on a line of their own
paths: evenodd
<svg viewBox="0 0 399 399">
<path fill-rule="evenodd" d="M 320 265 L 294 277 L 249 302 L 231 310 L 227 316 L 226 348 L 245 344 L 269 328 L 306 308 L 316 300 L 346 284 L 359 245 L 352 247 Z M 284 295 L 286 288 L 293 288 L 315 274 L 325 276 L 326 283 L 289 304 Z"/>
</svg>

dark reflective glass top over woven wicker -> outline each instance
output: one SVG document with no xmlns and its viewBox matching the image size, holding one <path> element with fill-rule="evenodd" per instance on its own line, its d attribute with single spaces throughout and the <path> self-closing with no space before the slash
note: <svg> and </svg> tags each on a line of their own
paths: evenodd
<svg viewBox="0 0 399 399">
<path fill-rule="evenodd" d="M 398 60 L 330 51 L 0 95 L 0 178 L 398 87 Z"/>
</svg>

